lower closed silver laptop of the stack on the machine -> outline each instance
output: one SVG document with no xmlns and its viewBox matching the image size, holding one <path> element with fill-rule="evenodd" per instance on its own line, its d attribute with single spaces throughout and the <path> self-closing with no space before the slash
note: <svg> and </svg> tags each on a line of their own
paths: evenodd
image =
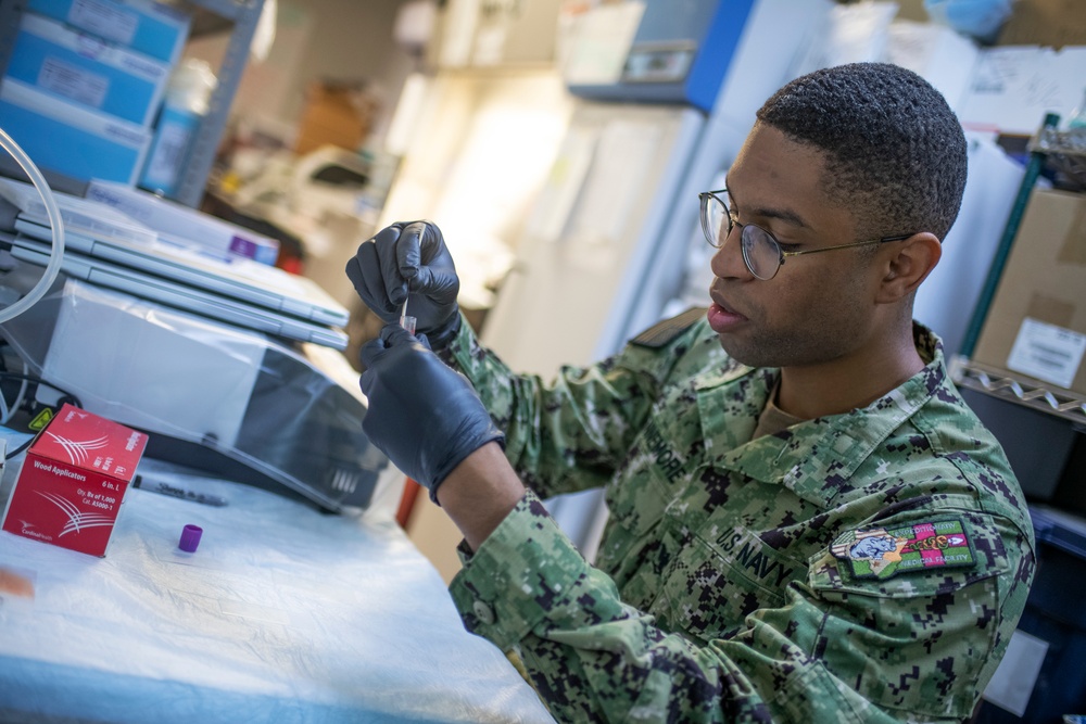
<svg viewBox="0 0 1086 724">
<path fill-rule="evenodd" d="M 11 254 L 16 259 L 37 266 L 46 266 L 49 263 L 48 244 L 22 236 L 15 237 L 10 243 Z M 348 335 L 342 330 L 291 317 L 275 309 L 257 307 L 163 277 L 151 276 L 105 259 L 86 256 L 74 247 L 64 250 L 61 270 L 76 279 L 258 332 L 313 342 L 334 350 L 344 350 L 348 345 Z"/>
</svg>

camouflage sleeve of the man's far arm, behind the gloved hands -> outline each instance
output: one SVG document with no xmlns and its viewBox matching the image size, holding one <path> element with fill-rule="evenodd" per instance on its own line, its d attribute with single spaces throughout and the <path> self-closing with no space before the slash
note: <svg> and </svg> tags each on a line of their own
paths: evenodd
<svg viewBox="0 0 1086 724">
<path fill-rule="evenodd" d="M 546 498 L 610 480 L 690 348 L 695 318 L 683 320 L 665 344 L 631 344 L 589 367 L 565 366 L 550 382 L 514 373 L 479 344 L 466 320 L 442 356 L 471 381 L 505 432 L 517 474 Z"/>
</svg>

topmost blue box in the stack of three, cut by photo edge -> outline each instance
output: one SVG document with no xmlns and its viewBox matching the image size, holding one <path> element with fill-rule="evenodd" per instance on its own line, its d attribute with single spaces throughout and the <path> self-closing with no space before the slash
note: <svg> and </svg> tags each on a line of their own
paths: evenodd
<svg viewBox="0 0 1086 724">
<path fill-rule="evenodd" d="M 171 65 L 180 60 L 192 22 L 187 13 L 147 0 L 29 0 L 26 7 Z"/>
</svg>

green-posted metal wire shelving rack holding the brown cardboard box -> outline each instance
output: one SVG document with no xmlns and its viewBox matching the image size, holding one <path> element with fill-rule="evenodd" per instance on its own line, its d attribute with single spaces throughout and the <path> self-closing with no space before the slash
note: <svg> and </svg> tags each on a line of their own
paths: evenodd
<svg viewBox="0 0 1086 724">
<path fill-rule="evenodd" d="M 996 287 L 1002 276 L 1010 246 L 1022 221 L 1025 205 L 1041 167 L 1048 164 L 1077 186 L 1086 188 L 1086 129 L 1060 131 L 1057 129 L 1059 117 L 1049 114 L 1040 129 L 1030 140 L 1030 163 L 1025 177 L 1008 218 L 1007 228 L 1003 230 L 996 259 L 988 271 L 988 278 L 970 322 L 961 354 L 956 355 L 951 361 L 950 374 L 959 386 L 1069 420 L 1076 430 L 1086 432 L 1086 395 L 1048 385 L 1040 380 L 1016 374 L 1011 370 L 981 365 L 970 359 L 981 328 L 987 317 Z"/>
</svg>

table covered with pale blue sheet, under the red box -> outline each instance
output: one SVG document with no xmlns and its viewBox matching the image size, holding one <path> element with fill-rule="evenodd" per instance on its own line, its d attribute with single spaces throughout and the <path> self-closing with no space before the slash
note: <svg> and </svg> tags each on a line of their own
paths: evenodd
<svg viewBox="0 0 1086 724">
<path fill-rule="evenodd" d="M 391 517 L 200 492 L 129 490 L 104 558 L 0 532 L 0 721 L 553 721 Z"/>
</svg>

